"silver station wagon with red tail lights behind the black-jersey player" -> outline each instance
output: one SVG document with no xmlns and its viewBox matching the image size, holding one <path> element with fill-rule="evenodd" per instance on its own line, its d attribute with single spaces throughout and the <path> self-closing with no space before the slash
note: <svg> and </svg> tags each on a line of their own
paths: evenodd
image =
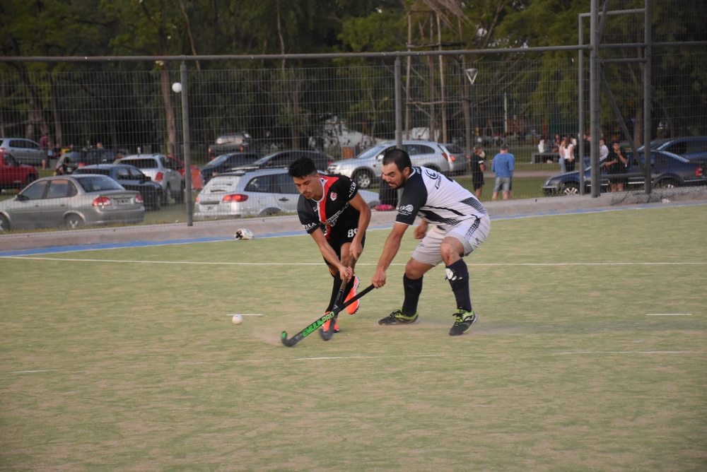
<svg viewBox="0 0 707 472">
<path fill-rule="evenodd" d="M 359 190 L 368 206 L 378 194 Z M 226 172 L 209 180 L 194 203 L 195 220 L 296 213 L 299 191 L 286 169 Z"/>
</svg>

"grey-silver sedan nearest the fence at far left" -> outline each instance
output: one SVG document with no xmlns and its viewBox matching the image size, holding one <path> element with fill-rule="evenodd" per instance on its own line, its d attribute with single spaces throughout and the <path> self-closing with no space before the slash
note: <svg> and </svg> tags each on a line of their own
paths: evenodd
<svg viewBox="0 0 707 472">
<path fill-rule="evenodd" d="M 105 175 L 44 177 L 0 201 L 0 232 L 142 223 L 144 217 L 139 192 Z"/>
</svg>

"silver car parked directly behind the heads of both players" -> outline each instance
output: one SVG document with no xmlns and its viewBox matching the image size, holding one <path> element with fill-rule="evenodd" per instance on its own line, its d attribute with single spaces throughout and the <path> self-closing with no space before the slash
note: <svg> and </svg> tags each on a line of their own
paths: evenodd
<svg viewBox="0 0 707 472">
<path fill-rule="evenodd" d="M 346 175 L 361 189 L 368 189 L 380 180 L 383 154 L 395 148 L 395 143 L 382 143 L 366 149 L 353 159 L 337 160 L 327 167 L 330 174 Z M 412 165 L 423 165 L 449 175 L 451 172 L 449 151 L 433 141 L 403 141 L 402 148 L 410 155 Z"/>
</svg>

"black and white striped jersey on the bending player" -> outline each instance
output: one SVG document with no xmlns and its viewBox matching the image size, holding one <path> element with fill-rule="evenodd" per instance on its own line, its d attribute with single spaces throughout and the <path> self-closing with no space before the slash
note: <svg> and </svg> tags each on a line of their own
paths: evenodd
<svg viewBox="0 0 707 472">
<path fill-rule="evenodd" d="M 472 192 L 435 170 L 412 167 L 395 221 L 412 225 L 419 216 L 446 231 L 463 220 L 484 215 L 486 208 Z"/>
</svg>

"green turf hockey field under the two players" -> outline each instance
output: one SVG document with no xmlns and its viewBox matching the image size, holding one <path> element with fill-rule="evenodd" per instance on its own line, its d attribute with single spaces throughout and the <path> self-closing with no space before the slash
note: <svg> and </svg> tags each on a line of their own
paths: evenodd
<svg viewBox="0 0 707 472">
<path fill-rule="evenodd" d="M 293 348 L 331 287 L 306 235 L 0 259 L 0 470 L 704 471 L 705 208 L 493 221 L 453 338 L 443 267 L 377 324 L 411 231 Z"/>
</svg>

